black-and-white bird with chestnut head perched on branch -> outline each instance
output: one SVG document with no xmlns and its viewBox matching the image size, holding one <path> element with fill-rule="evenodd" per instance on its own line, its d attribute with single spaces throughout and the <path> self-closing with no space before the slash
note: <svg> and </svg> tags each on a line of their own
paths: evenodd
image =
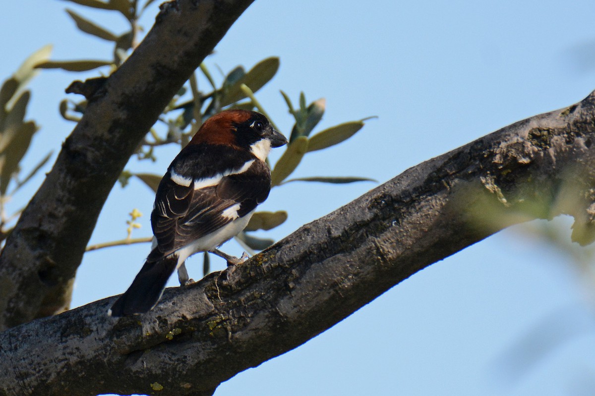
<svg viewBox="0 0 595 396">
<path fill-rule="evenodd" d="M 243 262 L 246 254 L 236 258 L 217 248 L 240 233 L 267 199 L 271 172 L 265 160 L 284 144 L 287 139 L 258 112 L 230 109 L 207 119 L 159 182 L 152 250 L 108 315 L 151 311 L 176 269 L 181 285 L 192 283 L 184 261 L 197 252 L 217 254 L 228 265 Z"/>
</svg>

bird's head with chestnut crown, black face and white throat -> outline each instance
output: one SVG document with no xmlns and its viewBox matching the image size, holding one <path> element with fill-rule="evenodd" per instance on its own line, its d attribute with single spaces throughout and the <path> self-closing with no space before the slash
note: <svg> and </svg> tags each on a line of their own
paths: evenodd
<svg viewBox="0 0 595 396">
<path fill-rule="evenodd" d="M 231 109 L 215 114 L 202 124 L 189 144 L 199 143 L 231 145 L 248 150 L 264 161 L 271 147 L 280 147 L 287 139 L 261 113 Z"/>
</svg>

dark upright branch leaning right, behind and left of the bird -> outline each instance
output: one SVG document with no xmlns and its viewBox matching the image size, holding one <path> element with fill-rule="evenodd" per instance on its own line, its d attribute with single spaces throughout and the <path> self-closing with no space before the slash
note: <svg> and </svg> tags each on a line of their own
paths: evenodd
<svg viewBox="0 0 595 396">
<path fill-rule="evenodd" d="M 140 46 L 90 95 L 0 256 L 0 330 L 68 309 L 84 248 L 126 162 L 252 1 L 165 3 Z"/>
</svg>

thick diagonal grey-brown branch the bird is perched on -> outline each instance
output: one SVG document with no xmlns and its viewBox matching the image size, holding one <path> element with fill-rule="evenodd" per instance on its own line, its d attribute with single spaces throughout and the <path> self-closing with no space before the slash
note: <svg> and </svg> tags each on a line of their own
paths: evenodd
<svg viewBox="0 0 595 396">
<path fill-rule="evenodd" d="M 412 167 L 146 315 L 108 318 L 112 297 L 4 331 L 0 395 L 210 395 L 506 226 L 568 213 L 591 242 L 594 110 L 591 93 Z"/>
</svg>

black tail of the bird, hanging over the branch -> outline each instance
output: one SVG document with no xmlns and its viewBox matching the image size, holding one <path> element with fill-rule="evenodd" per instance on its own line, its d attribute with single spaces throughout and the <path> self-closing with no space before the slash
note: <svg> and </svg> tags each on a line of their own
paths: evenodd
<svg viewBox="0 0 595 396">
<path fill-rule="evenodd" d="M 176 270 L 177 255 L 146 261 L 132 284 L 109 309 L 109 316 L 126 316 L 151 311 L 161 298 L 165 283 Z"/>
</svg>

